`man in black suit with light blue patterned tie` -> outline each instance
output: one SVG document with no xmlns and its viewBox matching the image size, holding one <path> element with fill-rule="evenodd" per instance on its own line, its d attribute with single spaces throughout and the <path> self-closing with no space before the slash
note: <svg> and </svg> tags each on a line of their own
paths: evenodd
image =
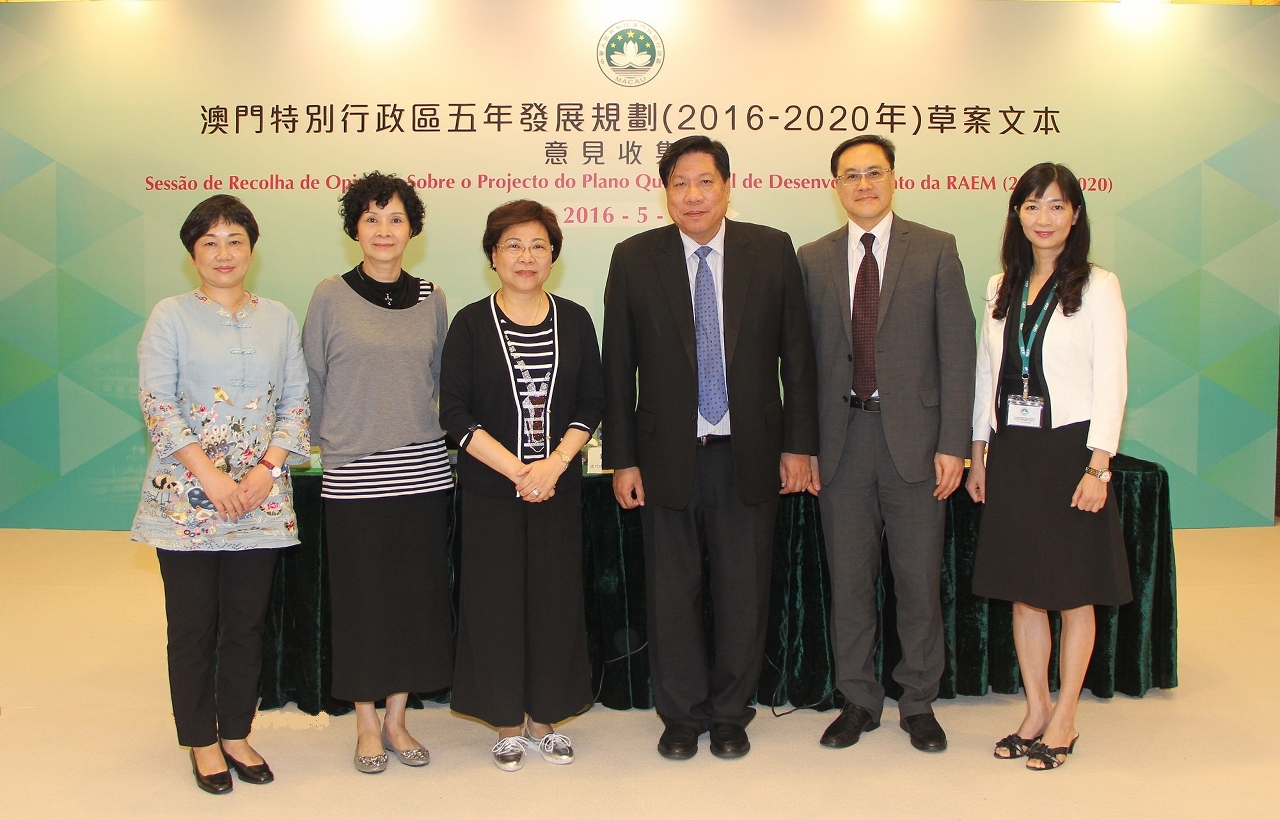
<svg viewBox="0 0 1280 820">
<path fill-rule="evenodd" d="M 724 146 L 680 139 L 658 173 L 675 224 L 621 242 L 604 290 L 604 466 L 641 512 L 658 751 L 692 757 L 709 730 L 713 755 L 741 757 L 778 495 L 809 486 L 818 452 L 813 339 L 791 238 L 724 219 Z"/>
</svg>

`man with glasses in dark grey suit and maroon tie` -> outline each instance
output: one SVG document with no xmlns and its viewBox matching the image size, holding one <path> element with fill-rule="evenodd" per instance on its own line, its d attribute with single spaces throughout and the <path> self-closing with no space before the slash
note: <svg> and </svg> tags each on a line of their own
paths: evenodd
<svg viewBox="0 0 1280 820">
<path fill-rule="evenodd" d="M 823 746 L 879 725 L 876 580 L 887 532 L 902 660 L 900 725 L 942 751 L 943 512 L 969 452 L 974 319 L 955 237 L 893 215 L 893 143 L 864 134 L 831 157 L 849 224 L 800 248 L 818 357 L 818 493 L 831 569 L 841 714 Z"/>
</svg>

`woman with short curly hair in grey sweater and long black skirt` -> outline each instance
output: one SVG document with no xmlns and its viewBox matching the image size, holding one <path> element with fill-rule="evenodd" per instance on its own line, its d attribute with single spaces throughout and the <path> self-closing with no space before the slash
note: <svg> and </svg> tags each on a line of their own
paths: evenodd
<svg viewBox="0 0 1280 820">
<path fill-rule="evenodd" d="M 424 217 L 408 183 L 366 174 L 343 194 L 342 216 L 364 260 L 316 287 L 302 345 L 324 463 L 333 696 L 355 701 L 355 765 L 376 774 L 387 752 L 430 761 L 404 707 L 410 692 L 444 690 L 453 675 L 453 480 L 438 411 L 448 317 L 444 292 L 401 267 Z"/>
</svg>

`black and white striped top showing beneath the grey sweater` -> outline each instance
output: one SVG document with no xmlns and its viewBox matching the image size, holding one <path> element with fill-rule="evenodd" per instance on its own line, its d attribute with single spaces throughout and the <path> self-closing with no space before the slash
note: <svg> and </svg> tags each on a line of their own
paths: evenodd
<svg viewBox="0 0 1280 820">
<path fill-rule="evenodd" d="M 417 301 L 431 296 L 434 285 L 419 280 Z M 366 297 L 367 298 L 367 297 Z M 387 307 L 369 299 L 372 304 Z M 394 310 L 394 308 L 389 308 Z M 422 441 L 372 453 L 342 467 L 325 468 L 320 496 L 326 499 L 374 499 L 436 493 L 453 486 L 449 452 L 444 439 Z"/>
</svg>

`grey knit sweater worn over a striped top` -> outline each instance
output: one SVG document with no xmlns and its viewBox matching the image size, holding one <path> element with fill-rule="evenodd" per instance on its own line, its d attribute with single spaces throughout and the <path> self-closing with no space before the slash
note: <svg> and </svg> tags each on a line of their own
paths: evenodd
<svg viewBox="0 0 1280 820">
<path fill-rule="evenodd" d="M 325 467 L 444 435 L 439 377 L 448 329 L 439 285 L 399 311 L 370 304 L 342 276 L 316 285 L 302 352 L 311 440 L 320 445 Z"/>
</svg>

